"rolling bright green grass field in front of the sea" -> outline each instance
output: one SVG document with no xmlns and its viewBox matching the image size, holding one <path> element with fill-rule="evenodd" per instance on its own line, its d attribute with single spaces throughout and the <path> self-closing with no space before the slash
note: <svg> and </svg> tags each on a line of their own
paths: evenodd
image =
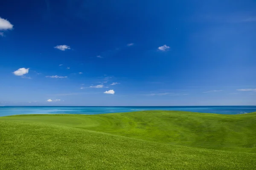
<svg viewBox="0 0 256 170">
<path fill-rule="evenodd" d="M 0 170 L 254 170 L 256 112 L 0 117 Z"/>
</svg>

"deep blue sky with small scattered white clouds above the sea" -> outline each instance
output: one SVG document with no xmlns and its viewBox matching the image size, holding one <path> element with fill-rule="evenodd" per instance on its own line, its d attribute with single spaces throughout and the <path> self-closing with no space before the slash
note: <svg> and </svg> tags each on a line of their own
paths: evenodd
<svg viewBox="0 0 256 170">
<path fill-rule="evenodd" d="M 8 0 L 0 105 L 256 105 L 255 0 Z"/>
</svg>

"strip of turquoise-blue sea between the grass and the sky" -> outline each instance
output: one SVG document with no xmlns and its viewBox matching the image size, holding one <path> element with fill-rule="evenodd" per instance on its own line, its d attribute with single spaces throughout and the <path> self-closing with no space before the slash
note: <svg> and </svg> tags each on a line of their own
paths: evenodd
<svg viewBox="0 0 256 170">
<path fill-rule="evenodd" d="M 1 106 L 0 116 L 17 114 L 102 114 L 132 111 L 191 111 L 200 113 L 243 114 L 256 111 L 256 106 L 129 106 L 129 107 L 73 107 L 73 106 Z"/>
</svg>

